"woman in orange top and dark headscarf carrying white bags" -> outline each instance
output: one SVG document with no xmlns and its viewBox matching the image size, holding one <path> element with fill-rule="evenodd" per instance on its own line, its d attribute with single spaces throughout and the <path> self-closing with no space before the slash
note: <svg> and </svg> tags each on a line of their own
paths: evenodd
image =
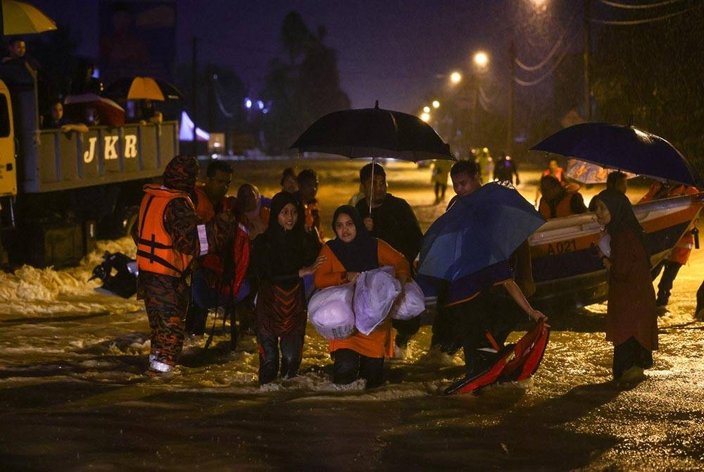
<svg viewBox="0 0 704 472">
<path fill-rule="evenodd" d="M 360 273 L 380 266 L 393 266 L 403 287 L 410 275 L 408 261 L 386 242 L 370 236 L 357 209 L 340 206 L 332 218 L 332 229 L 337 237 L 320 250 L 325 261 L 315 271 L 315 287 L 354 282 Z M 334 383 L 347 384 L 364 378 L 367 388 L 382 385 L 384 356 L 394 354 L 392 339 L 391 320 L 387 318 L 369 335 L 357 332 L 345 340 L 330 341 Z"/>
</svg>

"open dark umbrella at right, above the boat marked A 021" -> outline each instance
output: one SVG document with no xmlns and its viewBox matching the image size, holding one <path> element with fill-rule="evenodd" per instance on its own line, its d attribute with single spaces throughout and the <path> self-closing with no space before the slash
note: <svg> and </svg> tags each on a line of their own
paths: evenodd
<svg viewBox="0 0 704 472">
<path fill-rule="evenodd" d="M 703 183 L 672 144 L 631 125 L 582 123 L 556 132 L 531 149 L 652 178 L 697 186 Z"/>
</svg>

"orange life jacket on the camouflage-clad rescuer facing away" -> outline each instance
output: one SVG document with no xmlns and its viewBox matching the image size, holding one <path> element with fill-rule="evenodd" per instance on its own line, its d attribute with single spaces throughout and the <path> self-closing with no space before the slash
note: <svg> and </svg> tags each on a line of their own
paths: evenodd
<svg viewBox="0 0 704 472">
<path fill-rule="evenodd" d="M 170 201 L 184 198 L 193 206 L 188 194 L 159 185 L 145 185 L 139 206 L 137 267 L 139 271 L 180 277 L 193 256 L 173 247 L 171 236 L 164 228 L 164 210 Z"/>
</svg>

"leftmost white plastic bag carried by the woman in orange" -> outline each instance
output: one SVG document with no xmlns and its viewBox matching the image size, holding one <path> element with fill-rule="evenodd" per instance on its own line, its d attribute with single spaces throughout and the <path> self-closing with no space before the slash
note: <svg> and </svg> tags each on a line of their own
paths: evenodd
<svg viewBox="0 0 704 472">
<path fill-rule="evenodd" d="M 355 330 L 352 297 L 354 282 L 327 287 L 315 292 L 308 302 L 308 318 L 327 340 L 344 340 Z"/>
</svg>

